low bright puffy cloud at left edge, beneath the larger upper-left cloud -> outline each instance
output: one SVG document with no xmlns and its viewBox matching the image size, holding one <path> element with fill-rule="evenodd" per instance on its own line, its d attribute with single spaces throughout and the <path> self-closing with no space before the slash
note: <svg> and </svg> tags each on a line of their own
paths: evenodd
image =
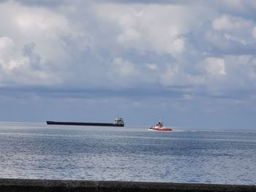
<svg viewBox="0 0 256 192">
<path fill-rule="evenodd" d="M 53 72 L 34 69 L 32 55 L 23 55 L 15 50 L 15 42 L 12 39 L 0 38 L 1 86 L 52 85 L 61 82 L 58 75 Z"/>
</svg>

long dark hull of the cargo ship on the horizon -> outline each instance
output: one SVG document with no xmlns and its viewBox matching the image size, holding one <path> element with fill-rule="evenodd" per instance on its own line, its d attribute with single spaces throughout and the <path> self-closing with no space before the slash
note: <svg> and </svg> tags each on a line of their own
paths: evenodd
<svg viewBox="0 0 256 192">
<path fill-rule="evenodd" d="M 83 123 L 83 122 L 60 122 L 60 121 L 46 121 L 48 125 L 62 125 L 62 126 L 113 126 L 123 127 L 124 124 L 114 123 Z"/>
</svg>

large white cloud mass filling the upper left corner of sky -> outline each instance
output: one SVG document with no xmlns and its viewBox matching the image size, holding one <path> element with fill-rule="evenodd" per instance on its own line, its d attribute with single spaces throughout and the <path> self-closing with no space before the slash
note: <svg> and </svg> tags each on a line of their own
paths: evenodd
<svg viewBox="0 0 256 192">
<path fill-rule="evenodd" d="M 3 23 L 0 32 L 1 85 L 56 85 L 68 77 L 70 58 L 64 38 L 86 34 L 58 12 L 41 7 L 24 7 L 15 1 L 0 4 Z M 8 19 L 8 23 L 6 18 Z M 8 35 L 7 35 L 8 34 Z M 27 45 L 33 46 L 25 50 Z M 26 53 L 29 51 L 30 53 Z M 54 69 L 54 70 L 51 70 Z"/>
</svg>

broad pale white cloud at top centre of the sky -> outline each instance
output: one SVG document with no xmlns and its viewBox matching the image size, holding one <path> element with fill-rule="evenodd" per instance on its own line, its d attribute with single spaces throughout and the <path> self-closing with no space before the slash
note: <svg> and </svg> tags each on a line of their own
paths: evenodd
<svg viewBox="0 0 256 192">
<path fill-rule="evenodd" d="M 117 23 L 117 40 L 124 47 L 173 55 L 184 51 L 182 34 L 187 31 L 189 20 L 186 7 L 101 4 L 97 14 L 102 20 Z"/>
</svg>

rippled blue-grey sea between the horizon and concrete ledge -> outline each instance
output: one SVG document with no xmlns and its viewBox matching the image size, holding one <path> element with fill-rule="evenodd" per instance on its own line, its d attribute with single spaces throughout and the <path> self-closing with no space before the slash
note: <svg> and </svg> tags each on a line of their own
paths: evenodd
<svg viewBox="0 0 256 192">
<path fill-rule="evenodd" d="M 255 185 L 256 131 L 1 122 L 0 178 Z"/>
</svg>

